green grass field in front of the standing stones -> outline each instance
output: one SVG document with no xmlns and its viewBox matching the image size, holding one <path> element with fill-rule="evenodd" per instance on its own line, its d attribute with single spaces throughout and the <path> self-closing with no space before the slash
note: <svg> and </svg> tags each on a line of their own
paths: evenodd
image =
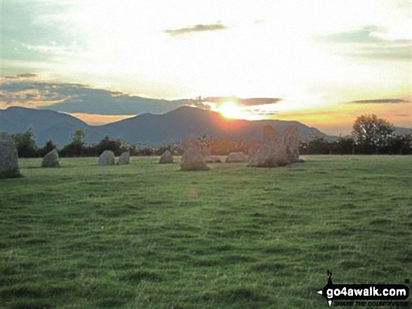
<svg viewBox="0 0 412 309">
<path fill-rule="evenodd" d="M 328 308 L 328 269 L 412 280 L 412 156 L 303 158 L 20 160 L 0 180 L 0 308 Z"/>
</svg>

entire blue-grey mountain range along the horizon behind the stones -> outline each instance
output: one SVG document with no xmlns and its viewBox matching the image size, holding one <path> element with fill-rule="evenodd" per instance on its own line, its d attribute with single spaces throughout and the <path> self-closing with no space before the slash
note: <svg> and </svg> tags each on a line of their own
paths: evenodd
<svg viewBox="0 0 412 309">
<path fill-rule="evenodd" d="M 8 107 L 0 110 L 0 131 L 15 133 L 32 128 L 39 146 L 52 139 L 55 144 L 62 147 L 71 141 L 72 132 L 78 128 L 86 131 L 86 142 L 89 144 L 99 142 L 105 135 L 124 139 L 132 144 L 159 145 L 199 135 L 249 141 L 262 139 L 265 125 L 272 125 L 278 132 L 283 132 L 289 125 L 296 125 L 300 139 L 303 140 L 314 135 L 328 138 L 328 135 L 316 128 L 310 128 L 298 121 L 227 120 L 215 111 L 187 106 L 166 114 L 142 114 L 98 126 L 88 125 L 74 116 L 45 109 Z"/>
</svg>

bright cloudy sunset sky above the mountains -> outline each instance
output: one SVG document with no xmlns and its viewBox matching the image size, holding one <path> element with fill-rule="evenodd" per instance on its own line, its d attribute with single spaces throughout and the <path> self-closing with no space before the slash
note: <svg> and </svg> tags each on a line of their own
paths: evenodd
<svg viewBox="0 0 412 309">
<path fill-rule="evenodd" d="M 190 104 L 334 135 L 362 114 L 411 128 L 411 12 L 409 0 L 0 0 L 0 109 L 100 124 Z"/>
</svg>

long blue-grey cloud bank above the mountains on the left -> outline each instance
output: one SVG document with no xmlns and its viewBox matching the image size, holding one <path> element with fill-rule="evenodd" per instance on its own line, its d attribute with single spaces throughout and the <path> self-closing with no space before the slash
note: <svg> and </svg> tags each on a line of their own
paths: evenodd
<svg viewBox="0 0 412 309">
<path fill-rule="evenodd" d="M 35 74 L 0 78 L 0 109 L 20 106 L 66 113 L 124 116 L 164 114 L 184 105 L 210 109 L 198 99 L 149 99 L 77 83 L 41 81 Z"/>
</svg>

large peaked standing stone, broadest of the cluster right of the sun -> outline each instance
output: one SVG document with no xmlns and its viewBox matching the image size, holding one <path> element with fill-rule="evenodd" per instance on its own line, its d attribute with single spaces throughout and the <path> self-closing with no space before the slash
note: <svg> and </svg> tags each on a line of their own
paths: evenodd
<svg viewBox="0 0 412 309">
<path fill-rule="evenodd" d="M 287 165 L 284 139 L 270 125 L 263 128 L 263 144 L 251 153 L 248 166 L 277 167 Z"/>
</svg>

